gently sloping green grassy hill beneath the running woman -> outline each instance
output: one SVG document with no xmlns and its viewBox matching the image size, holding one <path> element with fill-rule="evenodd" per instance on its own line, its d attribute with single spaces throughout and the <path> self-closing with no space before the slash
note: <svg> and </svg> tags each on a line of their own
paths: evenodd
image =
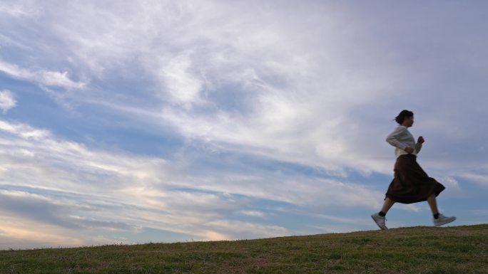
<svg viewBox="0 0 488 274">
<path fill-rule="evenodd" d="M 488 273 L 488 224 L 0 251 L 0 273 Z"/>
</svg>

